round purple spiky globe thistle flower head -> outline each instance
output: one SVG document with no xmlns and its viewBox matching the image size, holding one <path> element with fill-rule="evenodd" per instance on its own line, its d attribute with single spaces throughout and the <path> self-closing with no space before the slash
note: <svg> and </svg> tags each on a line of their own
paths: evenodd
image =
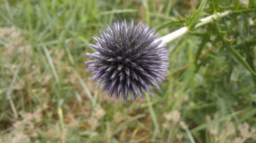
<svg viewBox="0 0 256 143">
<path fill-rule="evenodd" d="M 156 40 L 158 35 L 141 21 L 135 26 L 133 19 L 129 26 L 125 20 L 106 25 L 106 33 L 100 30 L 101 37 L 93 37 L 97 43 L 90 44 L 96 51 L 87 53 L 94 58 L 86 63 L 91 80 L 98 80 L 95 87 L 103 85 L 101 92 L 124 101 L 128 95 L 136 100 L 137 94 L 144 98 L 144 91 L 152 94 L 150 87 L 159 88 L 168 67 L 166 45 Z"/>
</svg>

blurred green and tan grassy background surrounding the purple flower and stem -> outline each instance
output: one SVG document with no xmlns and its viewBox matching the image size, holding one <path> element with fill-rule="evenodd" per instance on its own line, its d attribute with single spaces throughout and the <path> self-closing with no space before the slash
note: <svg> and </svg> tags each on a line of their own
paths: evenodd
<svg viewBox="0 0 256 143">
<path fill-rule="evenodd" d="M 255 2 L 200 4 L 1 0 L 0 142 L 256 142 Z M 193 28 L 226 10 L 233 14 Z M 159 38 L 192 24 L 167 44 L 161 89 L 123 102 L 93 87 L 84 62 L 100 28 L 131 18 Z"/>
</svg>

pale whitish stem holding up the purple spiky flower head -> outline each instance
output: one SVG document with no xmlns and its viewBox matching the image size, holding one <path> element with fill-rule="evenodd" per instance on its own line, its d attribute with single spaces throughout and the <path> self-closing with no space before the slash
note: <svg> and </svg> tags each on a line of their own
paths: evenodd
<svg viewBox="0 0 256 143">
<path fill-rule="evenodd" d="M 222 18 L 222 17 L 227 16 L 231 13 L 232 13 L 231 10 L 227 10 L 227 11 L 222 12 L 222 13 L 212 14 L 210 16 L 207 16 L 205 18 L 200 19 L 201 22 L 196 24 L 195 27 L 197 28 L 197 27 L 200 27 L 200 26 L 205 25 L 207 23 L 210 23 L 212 18 L 214 18 L 214 19 Z M 172 32 L 170 34 L 167 34 L 167 35 L 159 38 L 158 40 L 162 40 L 162 43 L 166 44 L 166 43 L 169 43 L 169 42 L 177 39 L 178 37 L 186 34 L 187 32 L 188 32 L 188 28 L 185 26 L 185 27 L 182 27 L 182 28 L 180 28 L 179 30 L 177 30 L 175 32 Z"/>
</svg>

